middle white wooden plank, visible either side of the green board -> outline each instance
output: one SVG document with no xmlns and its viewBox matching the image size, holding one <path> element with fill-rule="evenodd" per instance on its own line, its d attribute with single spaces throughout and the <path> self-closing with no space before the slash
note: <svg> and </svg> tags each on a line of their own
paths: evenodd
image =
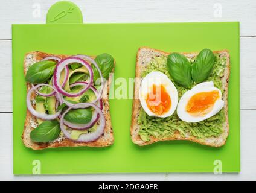
<svg viewBox="0 0 256 193">
<path fill-rule="evenodd" d="M 256 109 L 256 38 L 240 39 L 240 108 Z M 11 41 L 0 41 L 0 112 L 12 112 Z"/>
</svg>

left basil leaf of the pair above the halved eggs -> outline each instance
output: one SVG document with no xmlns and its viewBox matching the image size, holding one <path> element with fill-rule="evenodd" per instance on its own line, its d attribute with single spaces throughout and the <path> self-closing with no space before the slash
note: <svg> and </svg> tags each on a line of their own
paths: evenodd
<svg viewBox="0 0 256 193">
<path fill-rule="evenodd" d="M 168 55 L 167 70 L 176 83 L 184 87 L 191 87 L 193 83 L 191 64 L 184 55 L 178 53 Z"/>
</svg>

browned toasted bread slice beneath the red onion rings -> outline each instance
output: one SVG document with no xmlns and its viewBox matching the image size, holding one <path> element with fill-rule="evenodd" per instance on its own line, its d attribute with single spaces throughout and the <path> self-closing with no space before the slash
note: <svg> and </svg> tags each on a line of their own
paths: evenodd
<svg viewBox="0 0 256 193">
<path fill-rule="evenodd" d="M 39 51 L 29 52 L 24 58 L 24 74 L 27 73 L 28 67 L 33 65 L 33 63 L 42 60 L 45 57 L 52 56 L 53 54 L 46 54 Z M 54 55 L 60 58 L 68 57 L 69 55 Z M 92 57 L 94 59 L 95 57 Z M 114 69 L 113 69 L 114 71 Z M 25 119 L 24 131 L 22 133 L 22 141 L 26 147 L 30 147 L 33 150 L 42 150 L 44 148 L 55 148 L 55 147 L 78 147 L 78 146 L 89 146 L 89 147 L 104 147 L 112 145 L 114 142 L 114 135 L 111 125 L 110 112 L 109 112 L 109 86 L 111 84 L 112 77 L 109 77 L 104 84 L 103 92 L 103 114 L 106 119 L 106 126 L 104 128 L 104 133 L 96 141 L 92 142 L 75 142 L 70 139 L 65 138 L 65 136 L 59 136 L 59 138 L 53 142 L 47 143 L 35 143 L 30 139 L 30 132 L 37 127 L 38 122 L 36 117 L 31 115 L 27 110 L 27 115 Z M 31 84 L 27 83 L 27 92 L 30 90 Z M 33 98 L 36 97 L 34 94 Z M 33 99 L 32 98 L 32 99 Z"/>
</svg>

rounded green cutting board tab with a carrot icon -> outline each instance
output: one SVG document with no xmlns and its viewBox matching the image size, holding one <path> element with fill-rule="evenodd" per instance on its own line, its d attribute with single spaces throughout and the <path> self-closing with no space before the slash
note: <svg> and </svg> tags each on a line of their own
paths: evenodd
<svg viewBox="0 0 256 193">
<path fill-rule="evenodd" d="M 70 1 L 59 1 L 48 10 L 46 24 L 81 24 L 83 15 L 80 8 Z"/>
</svg>

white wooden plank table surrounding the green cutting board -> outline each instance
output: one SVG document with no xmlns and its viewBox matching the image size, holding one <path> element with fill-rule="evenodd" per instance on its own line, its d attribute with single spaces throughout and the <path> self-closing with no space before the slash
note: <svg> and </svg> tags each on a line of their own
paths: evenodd
<svg viewBox="0 0 256 193">
<path fill-rule="evenodd" d="M 51 0 L 1 0 L 0 180 L 256 180 L 256 1 L 73 1 L 84 22 L 240 21 L 240 174 L 89 174 L 14 176 L 11 89 L 11 24 L 45 23 Z"/>
</svg>

